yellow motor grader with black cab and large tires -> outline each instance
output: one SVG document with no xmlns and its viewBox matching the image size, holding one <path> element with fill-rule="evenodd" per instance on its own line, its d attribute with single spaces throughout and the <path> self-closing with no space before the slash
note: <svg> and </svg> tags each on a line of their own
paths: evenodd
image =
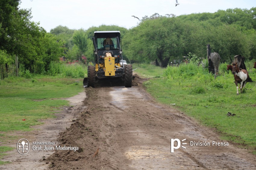
<svg viewBox="0 0 256 170">
<path fill-rule="evenodd" d="M 132 87 L 133 67 L 122 63 L 120 31 L 95 31 L 92 41 L 95 66 L 88 66 L 84 87 L 95 87 L 101 79 L 118 79 L 125 87 Z"/>
</svg>

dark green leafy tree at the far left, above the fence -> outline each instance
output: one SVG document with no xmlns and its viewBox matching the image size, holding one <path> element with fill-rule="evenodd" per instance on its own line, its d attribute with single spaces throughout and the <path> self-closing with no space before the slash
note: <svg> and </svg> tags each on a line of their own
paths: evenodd
<svg viewBox="0 0 256 170">
<path fill-rule="evenodd" d="M 17 55 L 24 69 L 44 73 L 51 61 L 63 53 L 63 43 L 31 21 L 31 10 L 19 9 L 20 1 L 3 0 L 1 4 L 0 48 L 10 56 Z"/>
</svg>

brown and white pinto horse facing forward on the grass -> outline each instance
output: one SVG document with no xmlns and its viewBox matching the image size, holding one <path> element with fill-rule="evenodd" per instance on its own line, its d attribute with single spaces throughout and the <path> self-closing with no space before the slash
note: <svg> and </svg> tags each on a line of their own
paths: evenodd
<svg viewBox="0 0 256 170">
<path fill-rule="evenodd" d="M 236 94 L 238 95 L 238 83 L 240 83 L 240 92 L 245 88 L 246 82 L 248 82 L 249 74 L 247 70 L 239 69 L 237 63 L 232 63 L 232 73 L 235 75 Z"/>
</svg>

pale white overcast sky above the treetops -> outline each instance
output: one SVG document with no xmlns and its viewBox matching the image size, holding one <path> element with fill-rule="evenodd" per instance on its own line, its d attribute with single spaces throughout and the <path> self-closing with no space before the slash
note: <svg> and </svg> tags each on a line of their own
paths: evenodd
<svg viewBox="0 0 256 170">
<path fill-rule="evenodd" d="M 32 20 L 49 32 L 58 25 L 70 29 L 118 25 L 137 26 L 143 16 L 154 13 L 176 16 L 191 13 L 214 13 L 228 8 L 250 9 L 256 0 L 21 0 L 20 8 L 32 9 Z"/>
</svg>

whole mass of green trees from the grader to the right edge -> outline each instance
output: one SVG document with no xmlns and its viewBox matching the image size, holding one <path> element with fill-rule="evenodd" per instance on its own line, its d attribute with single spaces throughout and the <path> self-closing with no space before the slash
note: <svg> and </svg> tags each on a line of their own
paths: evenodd
<svg viewBox="0 0 256 170">
<path fill-rule="evenodd" d="M 255 9 L 145 16 L 123 38 L 124 53 L 133 62 L 156 61 L 166 67 L 171 61 L 180 62 L 189 52 L 206 58 L 206 45 L 211 44 L 221 62 L 231 62 L 238 54 L 255 59 Z"/>
</svg>

